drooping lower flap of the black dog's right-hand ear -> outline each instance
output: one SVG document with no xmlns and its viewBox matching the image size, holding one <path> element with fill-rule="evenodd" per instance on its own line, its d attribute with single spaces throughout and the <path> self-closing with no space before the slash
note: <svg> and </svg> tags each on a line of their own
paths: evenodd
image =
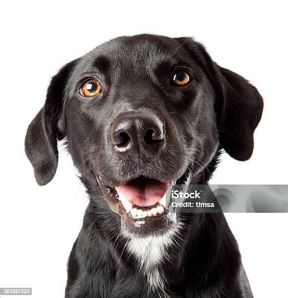
<svg viewBox="0 0 288 298">
<path fill-rule="evenodd" d="M 216 67 L 223 86 L 222 111 L 217 117 L 220 143 L 231 157 L 244 161 L 253 152 L 253 133 L 261 119 L 263 99 L 244 77 Z"/>
</svg>

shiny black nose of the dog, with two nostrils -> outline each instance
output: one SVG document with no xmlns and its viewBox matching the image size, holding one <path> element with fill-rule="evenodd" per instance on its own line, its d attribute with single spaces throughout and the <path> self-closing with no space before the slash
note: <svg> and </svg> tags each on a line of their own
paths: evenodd
<svg viewBox="0 0 288 298">
<path fill-rule="evenodd" d="M 164 124 L 154 114 L 122 114 L 110 127 L 110 140 L 122 158 L 155 157 L 165 146 Z"/>
</svg>

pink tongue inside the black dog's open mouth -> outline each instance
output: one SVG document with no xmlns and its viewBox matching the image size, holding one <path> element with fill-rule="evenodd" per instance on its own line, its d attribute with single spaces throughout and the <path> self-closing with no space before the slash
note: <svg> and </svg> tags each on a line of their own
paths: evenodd
<svg viewBox="0 0 288 298">
<path fill-rule="evenodd" d="M 152 206 L 162 199 L 166 186 L 167 183 L 139 177 L 125 185 L 116 186 L 115 189 L 137 206 Z"/>
</svg>

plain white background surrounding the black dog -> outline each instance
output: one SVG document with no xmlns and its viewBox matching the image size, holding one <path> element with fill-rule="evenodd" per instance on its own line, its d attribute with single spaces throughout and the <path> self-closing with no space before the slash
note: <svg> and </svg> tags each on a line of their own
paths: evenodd
<svg viewBox="0 0 288 298">
<path fill-rule="evenodd" d="M 217 184 L 287 184 L 285 1 L 2 1 L 0 9 L 0 287 L 63 297 L 66 261 L 87 205 L 70 156 L 38 186 L 24 136 L 59 67 L 103 41 L 154 33 L 193 36 L 212 58 L 249 79 L 265 100 L 248 162 L 227 154 Z M 61 151 L 61 150 L 60 150 Z M 255 298 L 287 298 L 288 214 L 228 214 Z"/>
</svg>

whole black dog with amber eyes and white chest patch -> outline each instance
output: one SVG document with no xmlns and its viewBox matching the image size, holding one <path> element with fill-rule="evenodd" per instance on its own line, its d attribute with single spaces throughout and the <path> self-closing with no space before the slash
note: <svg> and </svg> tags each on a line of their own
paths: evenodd
<svg viewBox="0 0 288 298">
<path fill-rule="evenodd" d="M 223 149 L 253 151 L 263 101 L 192 38 L 118 37 L 66 64 L 30 124 L 39 185 L 67 147 L 90 204 L 66 298 L 250 298 L 222 213 L 167 212 L 167 185 L 207 184 Z"/>
</svg>

